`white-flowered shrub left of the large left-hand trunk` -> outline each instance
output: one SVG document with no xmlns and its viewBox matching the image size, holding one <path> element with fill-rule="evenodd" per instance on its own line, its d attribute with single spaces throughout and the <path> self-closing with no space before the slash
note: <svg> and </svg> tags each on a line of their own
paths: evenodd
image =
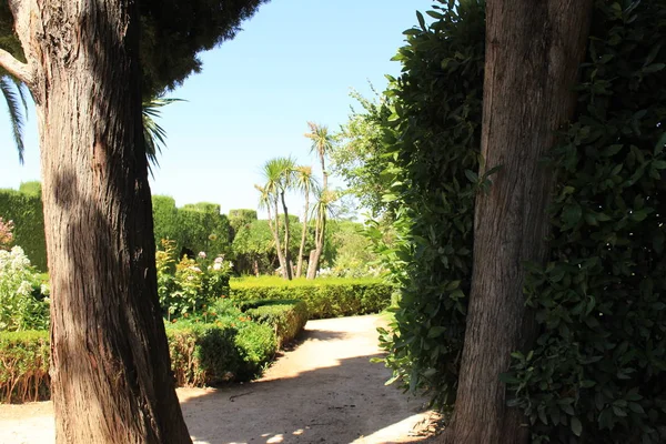
<svg viewBox="0 0 666 444">
<path fill-rule="evenodd" d="M 48 329 L 48 293 L 20 246 L 0 250 L 0 331 Z"/>
</svg>

